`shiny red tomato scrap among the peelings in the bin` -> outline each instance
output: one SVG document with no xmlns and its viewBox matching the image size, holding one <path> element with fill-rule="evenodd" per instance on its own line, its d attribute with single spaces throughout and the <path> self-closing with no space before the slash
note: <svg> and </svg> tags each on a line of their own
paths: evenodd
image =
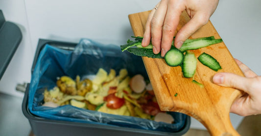
<svg viewBox="0 0 261 136">
<path fill-rule="evenodd" d="M 107 101 L 106 106 L 110 109 L 119 109 L 125 102 L 124 98 L 116 97 L 115 93 L 104 97 Z"/>
</svg>

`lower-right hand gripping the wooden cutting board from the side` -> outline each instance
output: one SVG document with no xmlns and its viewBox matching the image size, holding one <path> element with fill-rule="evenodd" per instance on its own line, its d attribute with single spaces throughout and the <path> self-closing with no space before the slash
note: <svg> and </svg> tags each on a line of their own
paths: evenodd
<svg viewBox="0 0 261 136">
<path fill-rule="evenodd" d="M 213 77 L 214 83 L 233 87 L 246 94 L 234 101 L 230 112 L 240 116 L 261 114 L 261 76 L 257 76 L 245 64 L 235 59 L 245 77 L 232 73 L 217 73 Z"/>
</svg>

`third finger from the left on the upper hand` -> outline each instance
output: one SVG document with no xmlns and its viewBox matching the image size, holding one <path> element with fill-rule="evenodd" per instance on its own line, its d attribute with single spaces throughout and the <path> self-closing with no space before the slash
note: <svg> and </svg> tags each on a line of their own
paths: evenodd
<svg viewBox="0 0 261 136">
<path fill-rule="evenodd" d="M 166 18 L 162 27 L 162 42 L 161 42 L 161 56 L 164 57 L 166 52 L 170 49 L 171 43 L 175 34 L 175 30 L 179 24 L 179 19 L 185 6 L 181 4 L 174 4 L 172 0 L 169 1 Z"/>
</svg>

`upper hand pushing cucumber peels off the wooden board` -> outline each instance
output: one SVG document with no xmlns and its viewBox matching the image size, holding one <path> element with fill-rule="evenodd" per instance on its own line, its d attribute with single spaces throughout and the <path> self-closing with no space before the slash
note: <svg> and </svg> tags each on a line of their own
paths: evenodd
<svg viewBox="0 0 261 136">
<path fill-rule="evenodd" d="M 191 19 L 176 34 L 174 45 L 177 48 L 209 21 L 217 4 L 218 0 L 161 0 L 148 16 L 142 46 L 147 46 L 151 39 L 153 53 L 162 51 L 164 57 L 171 47 L 181 13 L 186 10 Z"/>
</svg>

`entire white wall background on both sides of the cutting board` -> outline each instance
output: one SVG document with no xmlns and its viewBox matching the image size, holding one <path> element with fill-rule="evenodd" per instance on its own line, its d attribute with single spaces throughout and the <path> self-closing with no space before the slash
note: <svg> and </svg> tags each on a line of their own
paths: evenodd
<svg viewBox="0 0 261 136">
<path fill-rule="evenodd" d="M 152 9 L 159 0 L 0 0 L 5 18 L 22 29 L 23 40 L 0 80 L 0 91 L 23 96 L 17 83 L 30 82 L 39 38 L 78 42 L 81 38 L 123 44 L 133 35 L 128 14 Z M 235 58 L 261 75 L 261 1 L 220 0 L 211 21 Z M 15 9 L 15 10 L 14 10 Z M 231 114 L 237 127 L 243 117 Z M 192 128 L 204 128 L 192 119 Z"/>
</svg>

